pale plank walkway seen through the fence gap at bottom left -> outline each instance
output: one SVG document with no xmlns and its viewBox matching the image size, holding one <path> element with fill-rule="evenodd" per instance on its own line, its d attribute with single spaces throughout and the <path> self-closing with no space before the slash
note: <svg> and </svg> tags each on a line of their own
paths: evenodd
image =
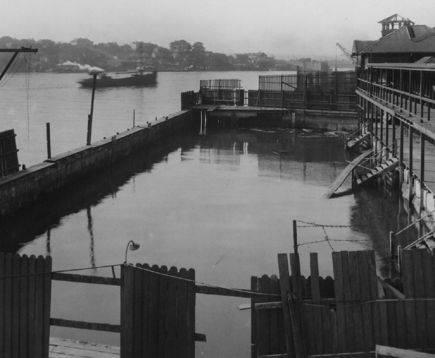
<svg viewBox="0 0 435 358">
<path fill-rule="evenodd" d="M 50 337 L 49 358 L 119 358 L 120 348 Z"/>
</svg>

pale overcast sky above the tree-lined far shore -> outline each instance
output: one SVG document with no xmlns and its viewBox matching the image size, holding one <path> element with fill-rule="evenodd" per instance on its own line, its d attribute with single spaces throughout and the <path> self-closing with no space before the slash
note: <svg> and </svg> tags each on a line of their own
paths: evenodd
<svg viewBox="0 0 435 358">
<path fill-rule="evenodd" d="M 335 43 L 378 39 L 377 22 L 398 13 L 435 26 L 435 0 L 3 0 L 0 37 L 76 37 L 167 47 L 200 41 L 221 53 L 335 56 Z"/>
</svg>

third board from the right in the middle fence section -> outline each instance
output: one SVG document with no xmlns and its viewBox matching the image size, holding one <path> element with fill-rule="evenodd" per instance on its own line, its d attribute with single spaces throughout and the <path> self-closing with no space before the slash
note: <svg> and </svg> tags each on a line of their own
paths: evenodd
<svg viewBox="0 0 435 358">
<path fill-rule="evenodd" d="M 177 276 L 177 267 L 169 269 L 169 275 Z M 167 280 L 167 350 L 168 358 L 177 356 L 177 279 Z"/>
</svg>

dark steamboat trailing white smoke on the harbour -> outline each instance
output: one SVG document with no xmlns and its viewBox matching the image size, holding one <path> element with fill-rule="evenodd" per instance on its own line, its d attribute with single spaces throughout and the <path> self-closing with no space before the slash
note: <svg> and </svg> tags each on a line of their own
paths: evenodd
<svg viewBox="0 0 435 358">
<path fill-rule="evenodd" d="M 117 72 L 117 74 L 128 73 L 130 77 L 113 78 L 107 76 L 105 72 L 90 72 L 90 75 L 98 75 L 97 87 L 122 87 L 122 86 L 144 86 L 157 83 L 157 71 L 145 73 L 144 71 L 136 72 Z M 82 87 L 92 88 L 93 78 L 82 79 L 78 81 Z"/>
</svg>

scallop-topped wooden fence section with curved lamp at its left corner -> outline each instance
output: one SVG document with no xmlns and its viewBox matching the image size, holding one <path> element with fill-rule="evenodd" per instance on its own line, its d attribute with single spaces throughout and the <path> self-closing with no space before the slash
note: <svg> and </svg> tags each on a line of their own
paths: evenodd
<svg viewBox="0 0 435 358">
<path fill-rule="evenodd" d="M 194 358 L 194 280 L 194 269 L 121 266 L 122 357 Z"/>
</svg>

